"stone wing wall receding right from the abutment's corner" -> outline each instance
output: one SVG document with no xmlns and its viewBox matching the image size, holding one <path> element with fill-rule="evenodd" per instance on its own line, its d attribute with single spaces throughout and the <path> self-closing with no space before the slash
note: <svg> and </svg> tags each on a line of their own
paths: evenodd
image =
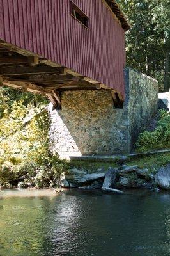
<svg viewBox="0 0 170 256">
<path fill-rule="evenodd" d="M 127 68 L 125 86 L 124 108 L 128 109 L 130 147 L 134 147 L 139 132 L 143 131 L 157 112 L 158 81 Z"/>
</svg>

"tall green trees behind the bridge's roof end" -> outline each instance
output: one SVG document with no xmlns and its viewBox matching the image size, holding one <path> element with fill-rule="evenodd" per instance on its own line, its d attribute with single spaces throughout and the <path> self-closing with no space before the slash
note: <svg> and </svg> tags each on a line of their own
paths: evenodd
<svg viewBox="0 0 170 256">
<path fill-rule="evenodd" d="M 127 32 L 127 65 L 159 81 L 167 88 L 170 50 L 168 0 L 118 0 L 132 28 Z M 167 77 L 166 77 L 167 76 Z M 164 84 L 166 80 L 166 84 Z"/>
</svg>

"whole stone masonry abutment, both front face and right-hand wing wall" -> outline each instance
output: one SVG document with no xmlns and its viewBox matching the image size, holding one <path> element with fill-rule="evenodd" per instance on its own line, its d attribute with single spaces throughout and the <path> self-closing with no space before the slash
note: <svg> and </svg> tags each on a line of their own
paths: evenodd
<svg viewBox="0 0 170 256">
<path fill-rule="evenodd" d="M 114 108 L 111 90 L 62 92 L 62 110 L 52 110 L 52 150 L 61 157 L 129 153 L 137 135 L 157 111 L 158 83 L 125 70 L 123 109 Z"/>
</svg>

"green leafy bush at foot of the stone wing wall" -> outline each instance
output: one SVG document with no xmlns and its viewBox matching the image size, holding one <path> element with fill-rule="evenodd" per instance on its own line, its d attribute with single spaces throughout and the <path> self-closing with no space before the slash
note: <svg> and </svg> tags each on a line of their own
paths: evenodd
<svg viewBox="0 0 170 256">
<path fill-rule="evenodd" d="M 145 152 L 154 149 L 170 148 L 170 115 L 164 110 L 160 111 L 160 118 L 155 131 L 143 131 L 139 134 L 137 151 Z"/>
</svg>

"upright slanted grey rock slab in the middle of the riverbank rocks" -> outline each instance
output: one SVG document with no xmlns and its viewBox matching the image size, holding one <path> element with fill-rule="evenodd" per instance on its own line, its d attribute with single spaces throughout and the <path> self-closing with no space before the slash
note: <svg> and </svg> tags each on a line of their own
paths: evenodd
<svg viewBox="0 0 170 256">
<path fill-rule="evenodd" d="M 118 169 L 109 167 L 109 169 L 105 173 L 105 179 L 102 188 L 113 188 L 117 176 Z"/>
</svg>

